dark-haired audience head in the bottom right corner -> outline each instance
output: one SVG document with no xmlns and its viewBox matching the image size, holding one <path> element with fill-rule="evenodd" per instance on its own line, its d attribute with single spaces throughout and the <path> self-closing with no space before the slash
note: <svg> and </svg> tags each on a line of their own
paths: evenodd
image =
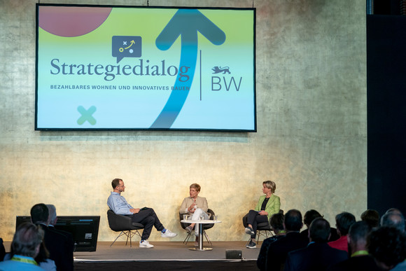
<svg viewBox="0 0 406 271">
<path fill-rule="evenodd" d="M 406 258 L 406 237 L 393 227 L 372 230 L 367 237 L 367 250 L 377 265 L 390 270 Z"/>
</svg>

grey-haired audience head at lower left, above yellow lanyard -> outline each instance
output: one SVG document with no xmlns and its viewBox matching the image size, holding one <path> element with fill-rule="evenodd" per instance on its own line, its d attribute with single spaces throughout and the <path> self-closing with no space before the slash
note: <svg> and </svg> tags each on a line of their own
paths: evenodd
<svg viewBox="0 0 406 271">
<path fill-rule="evenodd" d="M 35 258 L 43 240 L 43 230 L 32 223 L 22 223 L 15 231 L 11 251 L 13 255 Z"/>
</svg>

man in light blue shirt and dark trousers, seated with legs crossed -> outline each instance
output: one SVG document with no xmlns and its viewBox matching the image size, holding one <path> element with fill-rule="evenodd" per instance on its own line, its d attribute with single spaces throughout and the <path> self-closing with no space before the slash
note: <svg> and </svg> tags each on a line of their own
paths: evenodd
<svg viewBox="0 0 406 271">
<path fill-rule="evenodd" d="M 121 195 L 121 193 L 125 191 L 125 185 L 122 179 L 113 179 L 111 186 L 113 186 L 113 192 L 111 192 L 107 200 L 107 205 L 109 205 L 110 209 L 116 214 L 131 216 L 132 222 L 144 225 L 139 247 L 148 249 L 153 247 L 153 245 L 148 242 L 148 237 L 151 235 L 153 226 L 161 232 L 161 237 L 175 237 L 177 235 L 162 225 L 152 208 L 133 208 L 127 203 L 125 197 Z"/>
</svg>

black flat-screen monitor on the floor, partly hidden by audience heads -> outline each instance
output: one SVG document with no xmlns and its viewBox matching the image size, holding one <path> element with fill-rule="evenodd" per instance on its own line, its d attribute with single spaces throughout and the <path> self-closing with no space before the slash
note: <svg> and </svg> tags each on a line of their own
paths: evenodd
<svg viewBox="0 0 406 271">
<path fill-rule="evenodd" d="M 17 216 L 15 228 L 31 222 L 31 216 Z M 57 230 L 71 232 L 75 251 L 96 251 L 100 216 L 58 216 Z"/>
</svg>

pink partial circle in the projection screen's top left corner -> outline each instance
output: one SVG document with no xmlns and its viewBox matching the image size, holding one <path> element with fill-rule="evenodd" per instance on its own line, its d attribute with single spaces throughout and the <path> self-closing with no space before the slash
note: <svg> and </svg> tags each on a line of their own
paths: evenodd
<svg viewBox="0 0 406 271">
<path fill-rule="evenodd" d="M 39 6 L 38 25 L 57 36 L 82 36 L 97 29 L 112 8 Z"/>
</svg>

